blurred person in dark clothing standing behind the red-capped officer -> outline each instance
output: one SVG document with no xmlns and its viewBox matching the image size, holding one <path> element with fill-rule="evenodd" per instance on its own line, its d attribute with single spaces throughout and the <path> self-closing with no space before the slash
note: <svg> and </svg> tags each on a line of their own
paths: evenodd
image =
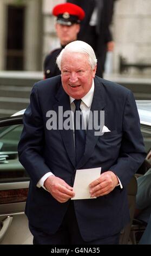
<svg viewBox="0 0 151 256">
<path fill-rule="evenodd" d="M 86 13 L 81 22 L 78 40 L 87 42 L 93 47 L 97 58 L 96 75 L 103 77 L 107 52 L 114 50 L 110 23 L 113 17 L 116 0 L 67 0 L 79 5 Z"/>
</svg>

